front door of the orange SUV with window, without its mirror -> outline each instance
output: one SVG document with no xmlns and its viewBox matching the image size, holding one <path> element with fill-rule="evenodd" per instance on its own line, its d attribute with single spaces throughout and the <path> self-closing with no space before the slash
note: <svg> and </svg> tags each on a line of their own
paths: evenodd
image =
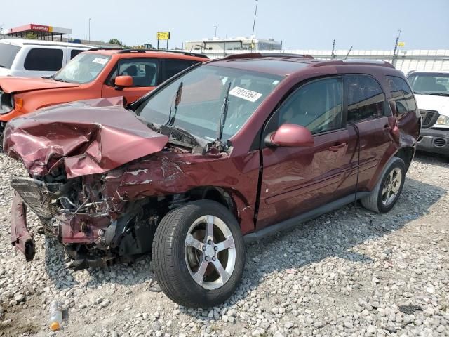
<svg viewBox="0 0 449 337">
<path fill-rule="evenodd" d="M 133 102 L 159 83 L 158 72 L 159 59 L 157 58 L 123 58 L 117 62 L 103 84 L 102 97 L 123 96 L 128 103 Z M 133 77 L 133 86 L 117 88 L 115 78 L 122 75 Z"/>
</svg>

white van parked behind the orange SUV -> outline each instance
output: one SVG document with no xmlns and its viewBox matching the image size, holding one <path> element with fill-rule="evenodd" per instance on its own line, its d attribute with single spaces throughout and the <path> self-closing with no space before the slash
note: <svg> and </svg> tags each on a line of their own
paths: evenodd
<svg viewBox="0 0 449 337">
<path fill-rule="evenodd" d="M 0 76 L 48 77 L 91 48 L 67 42 L 1 39 Z"/>
</svg>

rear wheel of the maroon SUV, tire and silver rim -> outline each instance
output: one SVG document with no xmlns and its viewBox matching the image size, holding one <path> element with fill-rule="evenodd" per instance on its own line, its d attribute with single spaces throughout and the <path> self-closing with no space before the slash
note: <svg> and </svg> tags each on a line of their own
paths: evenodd
<svg viewBox="0 0 449 337">
<path fill-rule="evenodd" d="M 376 213 L 387 213 L 396 204 L 406 180 L 406 164 L 401 158 L 393 157 L 384 169 L 380 180 L 361 204 Z"/>
</svg>

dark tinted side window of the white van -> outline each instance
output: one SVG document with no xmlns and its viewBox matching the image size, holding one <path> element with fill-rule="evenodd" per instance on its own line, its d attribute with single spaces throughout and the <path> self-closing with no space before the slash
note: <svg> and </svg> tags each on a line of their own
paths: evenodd
<svg viewBox="0 0 449 337">
<path fill-rule="evenodd" d="M 25 58 L 24 67 L 26 70 L 55 72 L 61 69 L 63 58 L 62 49 L 32 48 Z"/>
</svg>

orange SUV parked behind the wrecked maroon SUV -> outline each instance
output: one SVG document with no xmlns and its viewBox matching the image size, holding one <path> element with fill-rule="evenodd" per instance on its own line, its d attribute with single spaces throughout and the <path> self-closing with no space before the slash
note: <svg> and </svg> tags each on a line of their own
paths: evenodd
<svg viewBox="0 0 449 337">
<path fill-rule="evenodd" d="M 95 49 L 49 78 L 0 77 L 0 133 L 6 122 L 41 107 L 123 96 L 132 102 L 207 56 L 177 51 Z"/>
</svg>

